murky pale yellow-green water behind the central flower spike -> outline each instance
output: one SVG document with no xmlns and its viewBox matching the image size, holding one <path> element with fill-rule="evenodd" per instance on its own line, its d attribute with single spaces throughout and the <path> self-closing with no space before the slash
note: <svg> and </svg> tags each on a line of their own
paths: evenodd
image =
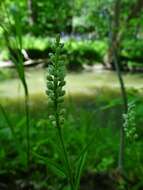
<svg viewBox="0 0 143 190">
<path fill-rule="evenodd" d="M 143 74 L 124 74 L 123 76 L 127 88 L 137 89 L 140 92 L 143 91 Z M 30 94 L 44 97 L 46 89 L 46 70 L 37 68 L 27 69 L 26 78 Z M 66 81 L 66 91 L 67 94 L 71 96 L 92 96 L 101 89 L 104 93 L 108 93 L 108 91 L 119 92 L 120 89 L 116 73 L 107 70 L 68 73 Z M 16 98 L 22 96 L 23 88 L 19 79 L 13 78 L 0 82 L 1 98 Z"/>
</svg>

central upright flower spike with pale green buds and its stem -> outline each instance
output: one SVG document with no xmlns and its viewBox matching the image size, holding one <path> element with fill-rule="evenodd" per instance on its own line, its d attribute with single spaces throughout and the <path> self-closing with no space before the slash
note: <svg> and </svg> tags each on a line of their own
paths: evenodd
<svg viewBox="0 0 143 190">
<path fill-rule="evenodd" d="M 46 93 L 52 103 L 53 113 L 50 115 L 50 119 L 53 123 L 53 126 L 57 129 L 57 135 L 60 140 L 64 165 L 66 168 L 68 184 L 70 185 L 71 190 L 74 190 L 74 176 L 62 133 L 62 127 L 65 118 L 64 109 L 62 108 L 65 94 L 65 91 L 63 90 L 63 87 L 65 86 L 65 65 L 62 60 L 63 58 L 61 57 L 63 45 L 60 43 L 59 35 L 56 38 L 54 47 L 55 53 L 51 55 L 50 59 L 52 64 L 48 68 Z"/>
</svg>

